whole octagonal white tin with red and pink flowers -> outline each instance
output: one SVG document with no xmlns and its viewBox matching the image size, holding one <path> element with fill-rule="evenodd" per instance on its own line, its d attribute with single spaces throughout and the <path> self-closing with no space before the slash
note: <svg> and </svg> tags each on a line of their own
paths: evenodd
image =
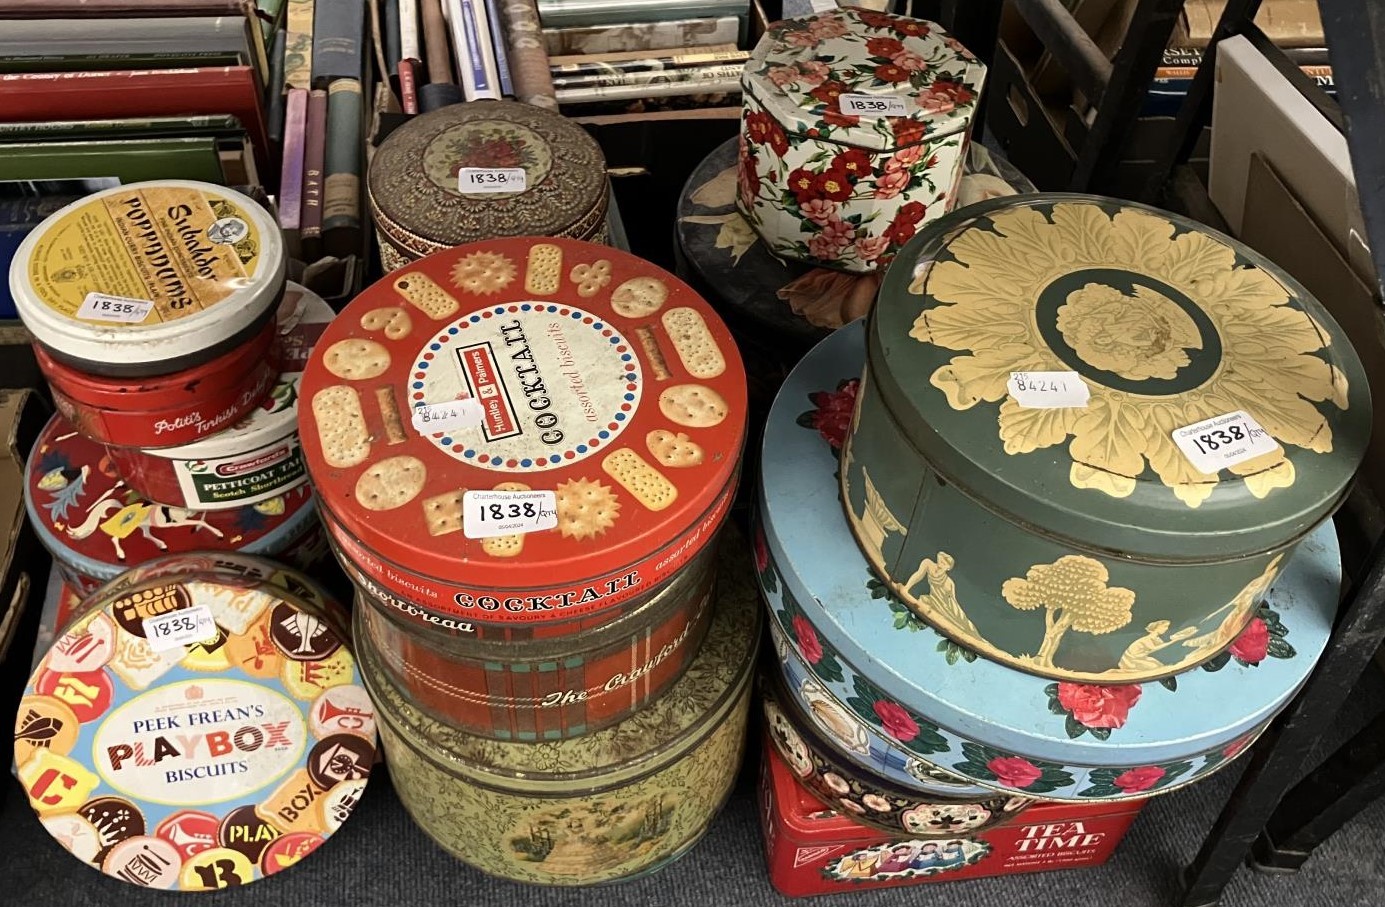
<svg viewBox="0 0 1385 907">
<path fill-rule="evenodd" d="M 884 266 L 951 208 L 985 73 L 921 19 L 839 8 L 776 24 L 741 76 L 741 213 L 781 258 Z"/>
</svg>

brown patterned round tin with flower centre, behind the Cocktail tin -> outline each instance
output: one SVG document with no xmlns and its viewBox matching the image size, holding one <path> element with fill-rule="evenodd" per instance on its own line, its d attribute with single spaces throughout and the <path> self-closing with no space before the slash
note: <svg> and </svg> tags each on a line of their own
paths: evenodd
<svg viewBox="0 0 1385 907">
<path fill-rule="evenodd" d="M 386 271 L 493 237 L 607 240 L 601 148 L 529 104 L 482 100 L 414 116 L 379 144 L 366 190 Z"/>
</svg>

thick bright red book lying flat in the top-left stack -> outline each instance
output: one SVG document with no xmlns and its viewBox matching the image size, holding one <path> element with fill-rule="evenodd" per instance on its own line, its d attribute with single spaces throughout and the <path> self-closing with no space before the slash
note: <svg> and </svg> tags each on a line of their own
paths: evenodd
<svg viewBox="0 0 1385 907">
<path fill-rule="evenodd" d="M 251 66 L 0 73 L 0 122 L 230 114 L 270 173 L 265 101 Z"/>
</svg>

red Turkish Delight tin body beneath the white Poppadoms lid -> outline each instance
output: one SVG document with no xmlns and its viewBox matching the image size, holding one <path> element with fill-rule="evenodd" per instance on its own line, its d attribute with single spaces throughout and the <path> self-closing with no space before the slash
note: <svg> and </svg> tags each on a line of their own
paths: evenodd
<svg viewBox="0 0 1385 907">
<path fill-rule="evenodd" d="M 270 318 L 248 342 L 158 378 L 98 378 L 33 352 L 53 400 L 87 438 L 125 447 L 175 447 L 224 431 L 269 393 L 278 374 Z"/>
</svg>

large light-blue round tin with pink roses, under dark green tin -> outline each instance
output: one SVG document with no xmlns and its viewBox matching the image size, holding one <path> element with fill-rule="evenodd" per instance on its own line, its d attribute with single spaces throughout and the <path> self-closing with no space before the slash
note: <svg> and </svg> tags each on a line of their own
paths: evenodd
<svg viewBox="0 0 1385 907">
<path fill-rule="evenodd" d="M 857 467 L 834 444 L 864 346 L 863 327 L 848 325 L 789 375 L 765 436 L 774 468 L 760 476 L 762 591 L 784 637 L 837 701 L 975 784 L 1069 800 L 1140 798 L 1194 781 L 1240 753 L 1288 703 L 1337 611 L 1342 571 L 1331 523 L 1285 558 L 1226 654 L 1161 683 L 1047 680 L 978 658 L 920 620 L 852 544 L 834 494 L 837 471 Z M 967 523 L 951 529 L 953 541 L 981 544 Z M 988 557 L 994 562 L 1004 551 Z M 939 608 L 960 595 L 953 568 L 935 551 L 925 571 Z"/>
</svg>

